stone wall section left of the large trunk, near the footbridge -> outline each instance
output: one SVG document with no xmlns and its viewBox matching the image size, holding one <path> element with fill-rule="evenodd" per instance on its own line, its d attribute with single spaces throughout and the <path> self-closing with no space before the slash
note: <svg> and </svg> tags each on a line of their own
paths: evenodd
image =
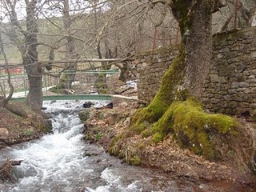
<svg viewBox="0 0 256 192">
<path fill-rule="evenodd" d="M 162 75 L 177 54 L 177 47 L 161 47 L 137 55 L 138 102 L 149 104 L 157 94 Z"/>
</svg>

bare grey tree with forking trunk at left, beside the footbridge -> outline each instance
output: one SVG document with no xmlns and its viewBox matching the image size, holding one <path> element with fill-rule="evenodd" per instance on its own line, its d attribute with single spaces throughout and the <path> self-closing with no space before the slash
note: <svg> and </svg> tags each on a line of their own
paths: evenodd
<svg viewBox="0 0 256 192">
<path fill-rule="evenodd" d="M 42 63 L 38 62 L 38 1 L 25 0 L 26 19 L 18 20 L 16 8 L 17 0 L 6 0 L 2 6 L 6 10 L 10 25 L 6 28 L 6 35 L 9 36 L 22 55 L 22 64 L 26 69 L 29 79 L 30 91 L 26 103 L 36 112 L 42 108 Z"/>
</svg>

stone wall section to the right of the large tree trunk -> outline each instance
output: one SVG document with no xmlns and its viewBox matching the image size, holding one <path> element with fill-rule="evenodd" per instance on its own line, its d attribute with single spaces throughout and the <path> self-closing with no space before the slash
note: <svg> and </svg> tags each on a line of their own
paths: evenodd
<svg viewBox="0 0 256 192">
<path fill-rule="evenodd" d="M 204 105 L 224 114 L 256 115 L 255 77 L 256 27 L 216 35 Z"/>
</svg>

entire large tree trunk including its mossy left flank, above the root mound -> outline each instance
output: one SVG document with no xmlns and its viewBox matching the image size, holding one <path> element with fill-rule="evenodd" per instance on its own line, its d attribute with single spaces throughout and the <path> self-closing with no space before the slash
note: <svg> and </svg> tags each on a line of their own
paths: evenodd
<svg viewBox="0 0 256 192">
<path fill-rule="evenodd" d="M 158 122 L 175 100 L 184 100 L 187 96 L 200 99 L 203 82 L 210 69 L 211 14 L 223 4 L 215 0 L 174 0 L 168 3 L 180 26 L 182 45 L 162 78 L 153 102 L 138 110 L 132 118 L 131 129 L 141 127 L 139 132 L 146 128 L 142 126 L 144 122 Z"/>
</svg>

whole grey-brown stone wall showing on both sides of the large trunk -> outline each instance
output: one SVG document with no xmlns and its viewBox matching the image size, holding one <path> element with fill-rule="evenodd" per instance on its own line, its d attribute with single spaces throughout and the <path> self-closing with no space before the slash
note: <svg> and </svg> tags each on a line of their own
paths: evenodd
<svg viewBox="0 0 256 192">
<path fill-rule="evenodd" d="M 177 49 L 161 48 L 138 56 L 138 99 L 150 103 Z M 256 115 L 256 27 L 214 36 L 213 64 L 202 90 L 213 112 Z"/>
</svg>

